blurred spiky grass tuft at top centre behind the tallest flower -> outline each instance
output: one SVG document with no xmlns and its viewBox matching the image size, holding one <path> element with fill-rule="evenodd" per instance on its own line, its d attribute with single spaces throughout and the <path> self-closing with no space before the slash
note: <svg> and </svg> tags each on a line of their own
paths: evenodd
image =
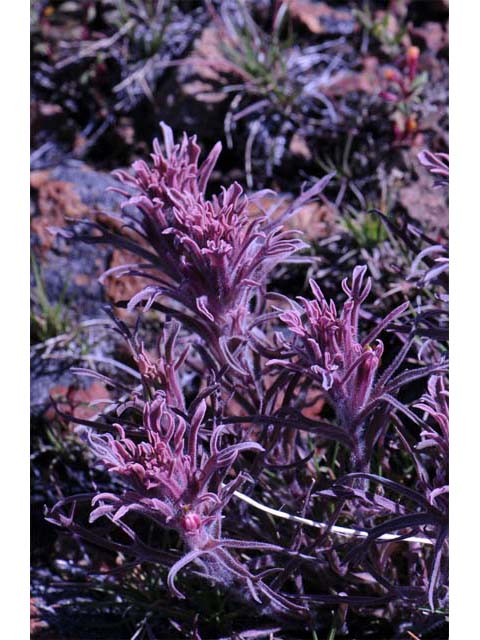
<svg viewBox="0 0 480 640">
<path fill-rule="evenodd" d="M 217 76 L 217 91 L 229 100 L 225 135 L 229 148 L 241 143 L 247 185 L 253 185 L 255 159 L 272 177 L 284 161 L 294 134 L 335 127 L 339 116 L 325 87 L 344 67 L 341 41 L 302 46 L 293 37 L 288 2 L 207 2 L 216 51 L 192 54 L 190 62 Z M 255 8 L 258 10 L 255 12 Z M 188 61 L 188 60 L 187 60 Z M 214 85 L 215 86 L 215 85 Z"/>
</svg>

